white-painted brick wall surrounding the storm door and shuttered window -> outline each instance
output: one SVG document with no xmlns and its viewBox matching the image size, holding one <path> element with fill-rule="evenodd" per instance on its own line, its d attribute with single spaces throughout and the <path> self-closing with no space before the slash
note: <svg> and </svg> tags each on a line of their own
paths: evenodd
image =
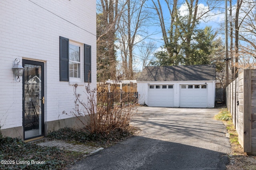
<svg viewBox="0 0 256 170">
<path fill-rule="evenodd" d="M 21 63 L 22 59 L 45 63 L 45 121 L 69 117 L 62 115 L 62 111 L 69 113 L 74 108 L 73 86 L 59 81 L 59 36 L 92 46 L 91 86 L 96 87 L 95 0 L 1 0 L 2 129 L 22 126 L 22 79 L 16 82 L 12 72 L 12 63 L 16 58 Z M 84 91 L 84 86 L 78 88 L 80 93 Z"/>
</svg>

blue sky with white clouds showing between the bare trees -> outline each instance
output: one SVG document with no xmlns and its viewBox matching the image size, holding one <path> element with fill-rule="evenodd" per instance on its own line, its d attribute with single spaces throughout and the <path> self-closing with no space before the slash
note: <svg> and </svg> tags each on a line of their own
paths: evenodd
<svg viewBox="0 0 256 170">
<path fill-rule="evenodd" d="M 169 14 L 169 11 L 168 11 L 168 8 L 166 7 L 165 2 L 164 0 L 160 0 L 160 2 L 162 1 L 162 8 L 163 8 L 163 13 L 164 13 L 164 16 L 165 16 L 165 20 L 166 20 L 166 27 L 168 28 L 168 26 L 170 25 L 169 23 L 169 20 L 170 20 L 170 14 Z M 152 6 L 152 4 L 150 4 L 150 0 L 147 1 L 147 5 L 148 6 Z M 151 2 L 152 3 L 152 2 Z M 218 3 L 218 8 L 212 10 L 211 12 L 208 13 L 208 17 L 205 17 L 203 18 L 203 20 L 200 21 L 200 25 L 199 27 L 200 28 L 204 28 L 206 26 L 211 26 L 212 29 L 216 30 L 219 32 L 219 37 L 222 37 L 223 39 L 223 42 L 224 42 L 224 20 L 225 20 L 225 1 L 224 0 L 221 0 L 221 1 L 218 1 L 216 2 L 215 0 L 212 1 L 212 3 Z M 232 7 L 232 10 L 233 10 L 233 15 L 234 15 L 234 10 L 235 10 L 235 7 L 234 5 L 236 4 L 236 2 L 233 0 L 233 7 Z M 202 11 L 204 12 L 205 10 L 208 9 L 208 6 L 206 5 L 205 1 L 200 1 L 199 2 L 199 5 L 198 5 L 198 11 Z M 230 8 L 230 3 L 228 2 L 228 10 Z M 186 14 L 186 5 L 184 3 L 180 3 L 180 8 L 179 10 L 181 11 L 181 14 Z M 228 12 L 229 14 L 229 12 Z M 154 22 L 159 22 L 157 19 L 158 19 L 158 16 L 155 16 L 156 20 L 151 20 L 152 23 Z M 160 51 L 161 50 L 161 46 L 164 45 L 164 42 L 162 40 L 162 32 L 161 32 L 161 28 L 158 24 L 152 24 L 150 23 L 151 25 L 147 25 L 146 27 L 144 27 L 144 29 L 146 29 L 148 31 L 148 34 L 152 34 L 150 35 L 149 38 L 145 39 L 144 41 L 146 42 L 150 42 L 150 41 L 154 41 L 156 43 L 156 49 L 155 51 Z M 228 24 L 228 27 L 229 27 L 229 24 Z M 138 36 L 137 39 L 138 41 L 141 40 L 142 37 Z M 138 44 L 140 45 L 140 44 Z M 140 46 L 138 47 L 135 47 L 134 49 L 134 53 L 135 53 L 135 56 L 139 53 L 138 52 L 138 49 L 136 48 L 141 48 Z M 120 57 L 118 57 L 119 60 L 121 60 Z M 140 57 L 137 56 L 137 57 L 134 57 L 134 69 L 135 70 L 138 70 L 138 71 L 141 71 L 142 70 L 142 63 L 140 61 Z"/>
</svg>

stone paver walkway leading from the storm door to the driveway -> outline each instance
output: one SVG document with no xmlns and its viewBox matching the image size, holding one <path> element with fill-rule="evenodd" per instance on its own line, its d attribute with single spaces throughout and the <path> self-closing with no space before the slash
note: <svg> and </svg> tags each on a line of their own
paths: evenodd
<svg viewBox="0 0 256 170">
<path fill-rule="evenodd" d="M 39 141 L 36 143 L 36 145 L 47 146 L 47 147 L 59 147 L 60 149 L 63 149 L 63 150 L 83 152 L 85 154 L 93 154 L 95 152 L 98 152 L 99 150 L 104 149 L 102 147 L 90 147 L 90 146 L 80 145 L 80 144 L 76 145 L 76 144 L 67 143 L 61 140 L 43 141 L 43 142 Z"/>
</svg>

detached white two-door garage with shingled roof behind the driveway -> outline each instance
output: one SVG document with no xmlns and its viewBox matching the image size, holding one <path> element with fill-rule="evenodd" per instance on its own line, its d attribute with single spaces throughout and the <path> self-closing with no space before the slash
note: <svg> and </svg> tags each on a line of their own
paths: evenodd
<svg viewBox="0 0 256 170">
<path fill-rule="evenodd" d="M 214 107 L 215 65 L 151 66 L 137 78 L 139 103 L 153 107 Z"/>
</svg>

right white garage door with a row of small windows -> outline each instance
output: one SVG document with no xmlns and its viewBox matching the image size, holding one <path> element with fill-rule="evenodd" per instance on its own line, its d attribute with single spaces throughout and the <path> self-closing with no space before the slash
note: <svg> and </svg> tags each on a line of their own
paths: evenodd
<svg viewBox="0 0 256 170">
<path fill-rule="evenodd" d="M 207 107 L 207 85 L 180 85 L 180 107 Z"/>
</svg>

